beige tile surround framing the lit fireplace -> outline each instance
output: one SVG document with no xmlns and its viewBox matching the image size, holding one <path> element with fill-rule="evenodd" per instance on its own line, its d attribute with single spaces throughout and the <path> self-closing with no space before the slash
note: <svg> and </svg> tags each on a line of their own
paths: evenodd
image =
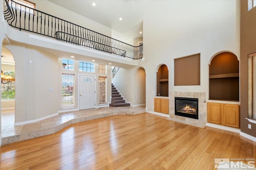
<svg viewBox="0 0 256 170">
<path fill-rule="evenodd" d="M 198 120 L 175 115 L 174 97 L 198 98 Z M 196 127 L 205 127 L 207 121 L 206 93 L 204 92 L 169 92 L 169 120 L 185 123 Z"/>
</svg>

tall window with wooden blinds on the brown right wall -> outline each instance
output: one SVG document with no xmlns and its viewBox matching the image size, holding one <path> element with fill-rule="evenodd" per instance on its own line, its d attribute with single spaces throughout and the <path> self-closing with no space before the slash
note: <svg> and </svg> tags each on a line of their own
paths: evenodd
<svg viewBox="0 0 256 170">
<path fill-rule="evenodd" d="M 256 119 L 256 54 L 248 57 L 248 118 Z"/>
</svg>

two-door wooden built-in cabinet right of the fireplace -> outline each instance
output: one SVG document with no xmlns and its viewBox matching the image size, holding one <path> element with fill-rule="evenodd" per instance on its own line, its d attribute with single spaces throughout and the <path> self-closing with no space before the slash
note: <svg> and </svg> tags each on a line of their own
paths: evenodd
<svg viewBox="0 0 256 170">
<path fill-rule="evenodd" d="M 235 104 L 207 103 L 207 121 L 239 128 L 239 107 Z"/>
</svg>

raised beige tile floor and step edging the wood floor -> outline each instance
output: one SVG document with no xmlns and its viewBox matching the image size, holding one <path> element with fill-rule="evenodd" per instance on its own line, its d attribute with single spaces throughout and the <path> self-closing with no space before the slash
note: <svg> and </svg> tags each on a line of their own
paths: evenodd
<svg viewBox="0 0 256 170">
<path fill-rule="evenodd" d="M 8 123 L 12 122 L 14 118 L 11 119 L 10 117 L 2 117 L 2 145 L 53 134 L 73 123 L 89 121 L 92 119 L 99 119 L 102 117 L 109 117 L 114 115 L 137 115 L 145 112 L 145 106 L 104 107 L 59 113 L 59 115 L 57 116 L 50 117 L 42 121 L 18 126 L 14 126 L 12 123 Z"/>
</svg>

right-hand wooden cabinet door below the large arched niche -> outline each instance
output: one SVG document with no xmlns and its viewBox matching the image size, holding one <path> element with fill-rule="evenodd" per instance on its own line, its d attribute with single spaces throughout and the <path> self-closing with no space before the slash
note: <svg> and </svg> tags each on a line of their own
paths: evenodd
<svg viewBox="0 0 256 170">
<path fill-rule="evenodd" d="M 223 125 L 239 128 L 239 105 L 223 105 Z"/>
</svg>

